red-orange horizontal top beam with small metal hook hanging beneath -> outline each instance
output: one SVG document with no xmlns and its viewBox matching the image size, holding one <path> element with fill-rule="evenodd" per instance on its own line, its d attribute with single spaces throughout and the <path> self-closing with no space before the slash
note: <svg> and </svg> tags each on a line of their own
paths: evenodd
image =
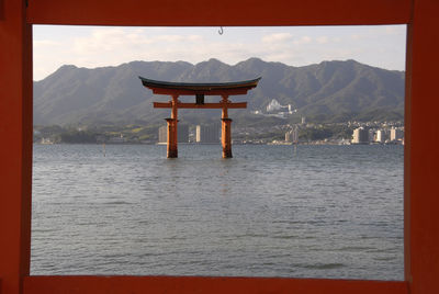
<svg viewBox="0 0 439 294">
<path fill-rule="evenodd" d="M 412 2 L 413 0 L 32 0 L 29 1 L 27 21 L 33 24 L 202 26 L 401 24 L 409 22 Z"/>
</svg>

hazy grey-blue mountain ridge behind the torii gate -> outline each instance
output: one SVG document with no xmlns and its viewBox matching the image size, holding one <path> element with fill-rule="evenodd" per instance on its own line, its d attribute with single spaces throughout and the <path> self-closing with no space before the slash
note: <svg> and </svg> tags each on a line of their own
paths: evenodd
<svg viewBox="0 0 439 294">
<path fill-rule="evenodd" d="M 169 111 L 153 109 L 153 101 L 168 101 L 169 98 L 153 95 L 142 86 L 138 76 L 180 82 L 226 82 L 262 77 L 259 86 L 247 95 L 230 98 L 249 102 L 248 110 L 240 114 L 264 109 L 272 99 L 281 104 L 292 104 L 305 116 L 344 120 L 353 114 L 378 112 L 402 116 L 404 113 L 404 72 L 354 60 L 323 61 L 304 67 L 258 58 L 234 66 L 217 59 L 196 65 L 132 61 L 94 69 L 67 65 L 34 82 L 34 124 L 128 124 L 167 117 Z M 183 116 L 194 112 L 210 115 L 195 110 L 185 111 Z"/>
</svg>

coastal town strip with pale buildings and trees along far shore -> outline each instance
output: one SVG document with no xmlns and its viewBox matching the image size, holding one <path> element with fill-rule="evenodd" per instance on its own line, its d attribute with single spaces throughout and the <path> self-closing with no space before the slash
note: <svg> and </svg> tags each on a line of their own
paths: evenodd
<svg viewBox="0 0 439 294">
<path fill-rule="evenodd" d="M 166 144 L 166 125 L 35 126 L 35 144 Z M 233 127 L 233 144 L 404 144 L 403 122 L 313 123 Z M 179 144 L 219 144 L 221 125 L 179 124 Z"/>
</svg>

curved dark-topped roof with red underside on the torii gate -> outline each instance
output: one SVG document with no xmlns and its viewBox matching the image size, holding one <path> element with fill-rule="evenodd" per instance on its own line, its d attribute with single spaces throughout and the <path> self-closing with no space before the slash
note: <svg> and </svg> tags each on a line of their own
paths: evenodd
<svg viewBox="0 0 439 294">
<path fill-rule="evenodd" d="M 170 82 L 157 81 L 138 77 L 143 86 L 156 94 L 246 94 L 248 90 L 258 86 L 261 78 L 233 82 Z"/>
</svg>

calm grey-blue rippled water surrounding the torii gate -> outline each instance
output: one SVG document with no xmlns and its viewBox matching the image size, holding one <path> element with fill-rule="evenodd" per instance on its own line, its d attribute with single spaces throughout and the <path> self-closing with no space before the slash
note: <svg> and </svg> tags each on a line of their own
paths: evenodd
<svg viewBox="0 0 439 294">
<path fill-rule="evenodd" d="M 403 147 L 34 146 L 32 274 L 403 280 Z"/>
</svg>

